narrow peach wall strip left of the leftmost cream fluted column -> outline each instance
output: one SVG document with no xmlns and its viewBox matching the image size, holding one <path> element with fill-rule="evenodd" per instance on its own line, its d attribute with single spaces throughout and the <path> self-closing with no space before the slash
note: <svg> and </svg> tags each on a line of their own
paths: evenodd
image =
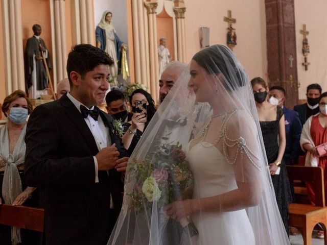
<svg viewBox="0 0 327 245">
<path fill-rule="evenodd" d="M 3 14 L 2 10 L 3 5 L 0 4 L 0 54 L 5 54 L 5 37 L 4 37 L 4 21 L 3 21 Z M 6 97 L 6 64 L 5 64 L 5 56 L 2 55 L 0 57 L 0 104 L 4 102 L 4 99 Z M 0 118 L 1 118 L 1 112 L 0 112 Z"/>
</svg>

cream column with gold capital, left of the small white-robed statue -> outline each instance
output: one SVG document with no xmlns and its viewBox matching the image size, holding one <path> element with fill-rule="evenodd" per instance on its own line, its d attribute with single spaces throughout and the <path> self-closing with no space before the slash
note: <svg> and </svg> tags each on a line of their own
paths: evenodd
<svg viewBox="0 0 327 245">
<path fill-rule="evenodd" d="M 156 2 L 146 2 L 149 22 L 149 53 L 150 53 L 150 90 L 153 100 L 158 101 L 159 97 L 159 61 L 158 61 L 158 40 L 157 40 L 157 20 Z"/>
</svg>

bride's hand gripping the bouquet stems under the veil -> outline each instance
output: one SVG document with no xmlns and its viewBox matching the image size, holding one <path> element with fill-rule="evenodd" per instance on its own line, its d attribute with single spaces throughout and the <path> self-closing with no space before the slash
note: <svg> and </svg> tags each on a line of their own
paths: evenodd
<svg viewBox="0 0 327 245">
<path fill-rule="evenodd" d="M 168 204 L 164 210 L 168 216 L 176 219 L 178 222 L 183 218 L 196 212 L 195 200 L 187 199 L 184 201 L 176 201 Z"/>
</svg>

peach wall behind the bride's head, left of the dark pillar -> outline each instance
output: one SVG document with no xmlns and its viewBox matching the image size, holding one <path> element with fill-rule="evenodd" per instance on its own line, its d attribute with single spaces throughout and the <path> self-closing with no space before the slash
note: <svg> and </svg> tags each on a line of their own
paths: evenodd
<svg viewBox="0 0 327 245">
<path fill-rule="evenodd" d="M 245 67 L 249 78 L 267 79 L 266 16 L 262 0 L 185 1 L 186 59 L 200 50 L 199 28 L 210 28 L 210 44 L 226 45 L 227 10 L 236 18 L 237 43 L 235 54 Z"/>
</svg>

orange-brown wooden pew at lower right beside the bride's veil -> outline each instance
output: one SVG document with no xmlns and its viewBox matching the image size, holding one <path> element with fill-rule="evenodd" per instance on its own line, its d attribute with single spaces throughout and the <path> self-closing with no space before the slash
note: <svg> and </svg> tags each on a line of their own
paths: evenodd
<svg viewBox="0 0 327 245">
<path fill-rule="evenodd" d="M 316 206 L 311 204 L 291 203 L 289 205 L 289 225 L 300 230 L 304 245 L 311 245 L 313 228 L 323 224 L 324 244 L 327 245 L 327 207 L 324 200 L 324 179 L 321 167 L 287 166 L 289 181 L 310 181 L 315 191 Z"/>
</svg>

